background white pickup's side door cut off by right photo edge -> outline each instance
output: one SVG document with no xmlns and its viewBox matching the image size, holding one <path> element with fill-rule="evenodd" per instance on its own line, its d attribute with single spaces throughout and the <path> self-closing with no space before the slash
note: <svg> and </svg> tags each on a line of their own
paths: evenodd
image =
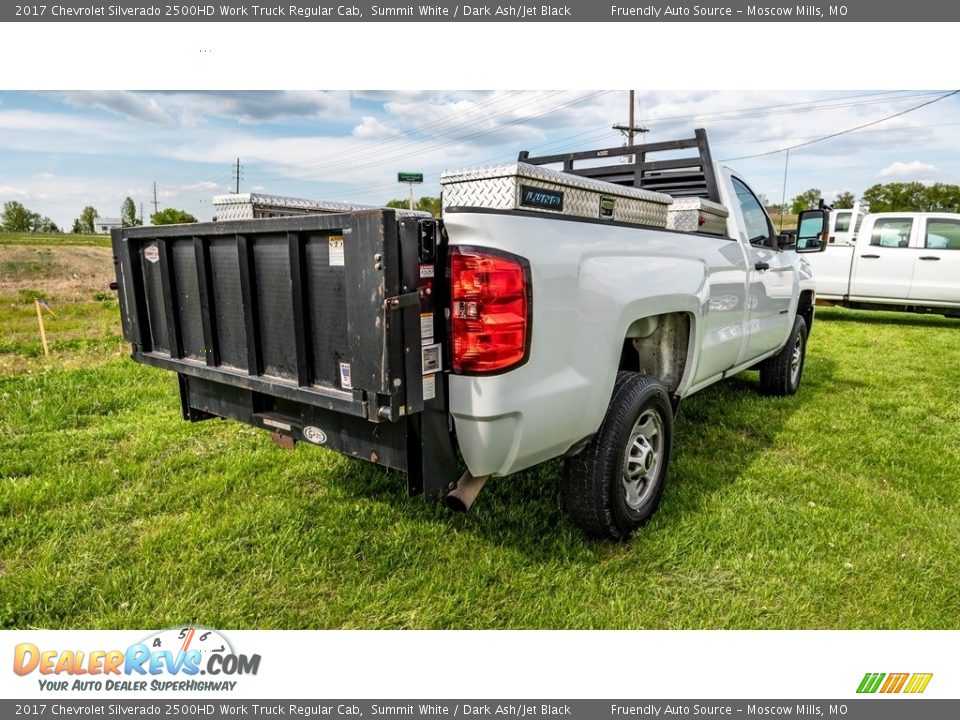
<svg viewBox="0 0 960 720">
<path fill-rule="evenodd" d="M 960 305 L 960 217 L 926 217 L 921 223 L 910 299 Z"/>
</svg>

